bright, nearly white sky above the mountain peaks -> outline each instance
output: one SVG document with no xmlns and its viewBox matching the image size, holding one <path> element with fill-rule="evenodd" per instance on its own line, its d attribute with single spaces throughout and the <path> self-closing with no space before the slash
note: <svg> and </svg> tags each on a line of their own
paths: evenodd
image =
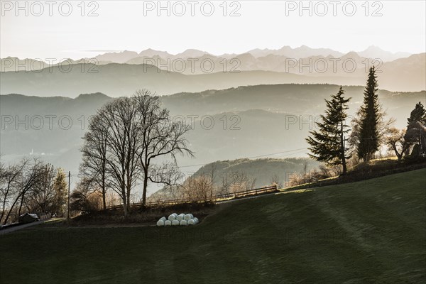
<svg viewBox="0 0 426 284">
<path fill-rule="evenodd" d="M 53 6 L 19 1 L 21 10 L 16 1 L 0 2 L 1 58 L 77 59 L 109 50 L 146 48 L 173 54 L 195 48 L 219 55 L 283 45 L 344 53 L 369 45 L 392 52 L 425 52 L 423 0 L 369 1 L 368 5 L 366 1 L 303 1 L 305 10 L 300 1 L 226 1 L 226 5 L 224 1 L 161 1 L 166 8 L 160 11 L 158 1 L 85 1 L 84 5 L 53 1 Z M 207 16 L 211 7 L 214 11 Z M 97 16 L 88 16 L 90 11 Z M 235 16 L 230 16 L 232 11 Z"/>
</svg>

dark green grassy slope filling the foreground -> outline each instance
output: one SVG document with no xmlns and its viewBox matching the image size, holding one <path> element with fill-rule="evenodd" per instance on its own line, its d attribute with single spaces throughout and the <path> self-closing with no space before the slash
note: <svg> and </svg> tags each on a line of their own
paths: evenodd
<svg viewBox="0 0 426 284">
<path fill-rule="evenodd" d="M 0 283 L 425 283 L 425 185 L 422 169 L 231 202 L 192 227 L 20 231 L 1 237 Z"/>
</svg>

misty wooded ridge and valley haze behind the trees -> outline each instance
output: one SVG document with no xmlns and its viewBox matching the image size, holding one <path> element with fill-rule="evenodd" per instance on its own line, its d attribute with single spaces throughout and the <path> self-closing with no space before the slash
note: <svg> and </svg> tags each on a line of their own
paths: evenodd
<svg viewBox="0 0 426 284">
<path fill-rule="evenodd" d="M 161 101 L 175 121 L 192 127 L 188 140 L 195 158 L 178 157 L 182 171 L 191 175 L 201 165 L 217 160 L 305 156 L 308 145 L 304 138 L 316 129 L 324 99 L 338 88 L 333 84 L 264 84 L 182 92 L 162 96 Z M 352 98 L 350 124 L 361 105 L 364 87 L 344 89 Z M 392 114 L 400 128 L 405 126 L 405 117 L 413 105 L 426 97 L 425 91 L 378 93 L 383 109 Z M 111 99 L 102 93 L 80 94 L 75 99 L 2 95 L 2 159 L 12 161 L 33 153 L 78 173 L 82 136 L 89 118 Z M 153 191 L 155 187 L 150 192 Z"/>
</svg>

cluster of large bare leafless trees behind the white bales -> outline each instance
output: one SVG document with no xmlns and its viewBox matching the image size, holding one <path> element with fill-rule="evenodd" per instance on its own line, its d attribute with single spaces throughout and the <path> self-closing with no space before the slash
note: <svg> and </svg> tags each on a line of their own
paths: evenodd
<svg viewBox="0 0 426 284">
<path fill-rule="evenodd" d="M 160 97 L 146 89 L 108 102 L 89 121 L 83 137 L 80 188 L 97 190 L 103 209 L 107 191 L 113 190 L 127 217 L 135 187 L 142 188 L 145 206 L 149 182 L 172 186 L 182 178 L 176 155 L 193 155 L 185 138 L 189 130 L 182 121 L 173 121 Z"/>
</svg>

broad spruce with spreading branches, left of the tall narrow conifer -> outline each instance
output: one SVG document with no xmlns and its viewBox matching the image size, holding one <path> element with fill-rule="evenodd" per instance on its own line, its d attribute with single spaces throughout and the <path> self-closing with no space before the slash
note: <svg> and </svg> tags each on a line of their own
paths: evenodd
<svg viewBox="0 0 426 284">
<path fill-rule="evenodd" d="M 345 147 L 345 133 L 349 132 L 345 124 L 347 117 L 347 103 L 351 98 L 344 98 L 344 90 L 340 87 L 339 92 L 331 96 L 332 99 L 325 99 L 325 115 L 321 115 L 321 122 L 318 121 L 318 131 L 310 131 L 311 136 L 306 138 L 310 144 L 309 150 L 312 152 L 311 158 L 327 165 L 342 165 L 342 173 L 346 174 L 346 155 L 348 148 Z"/>
</svg>

